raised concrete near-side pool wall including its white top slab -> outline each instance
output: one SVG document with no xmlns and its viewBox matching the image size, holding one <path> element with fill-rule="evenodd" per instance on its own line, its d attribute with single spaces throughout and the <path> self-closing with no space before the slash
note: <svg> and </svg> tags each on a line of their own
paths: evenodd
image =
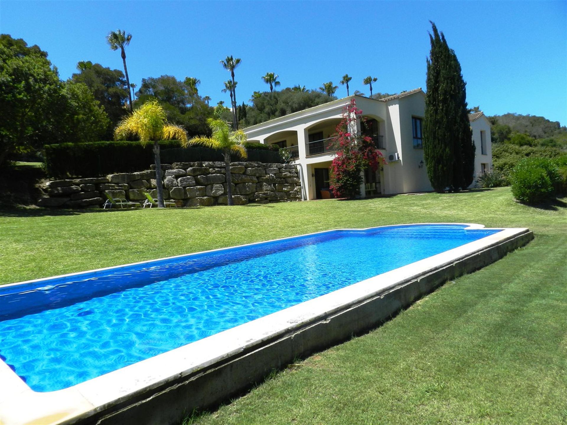
<svg viewBox="0 0 567 425">
<path fill-rule="evenodd" d="M 180 422 L 193 409 L 241 393 L 274 368 L 375 328 L 444 282 L 488 265 L 531 239 L 527 228 L 503 229 L 54 392 L 33 392 L 0 362 L 0 424 Z"/>
</svg>

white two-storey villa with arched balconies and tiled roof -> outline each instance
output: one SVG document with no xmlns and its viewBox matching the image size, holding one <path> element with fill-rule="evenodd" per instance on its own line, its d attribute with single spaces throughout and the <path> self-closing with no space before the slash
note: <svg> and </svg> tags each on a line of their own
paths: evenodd
<svg viewBox="0 0 567 425">
<path fill-rule="evenodd" d="M 244 129 L 250 142 L 286 148 L 299 165 L 303 199 L 329 196 L 329 167 L 335 156 L 331 141 L 351 99 L 362 109 L 366 128 L 357 131 L 374 138 L 387 164 L 376 172 L 365 171 L 362 197 L 378 194 L 428 192 L 433 190 L 424 167 L 421 126 L 425 115 L 425 93 L 421 88 L 375 100 L 350 96 L 314 108 L 291 113 Z M 476 146 L 475 175 L 492 169 L 490 122 L 482 112 L 469 116 Z"/>
</svg>

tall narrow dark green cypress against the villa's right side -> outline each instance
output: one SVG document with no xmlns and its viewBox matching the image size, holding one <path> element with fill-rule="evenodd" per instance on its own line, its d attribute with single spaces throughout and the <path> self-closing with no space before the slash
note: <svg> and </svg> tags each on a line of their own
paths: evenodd
<svg viewBox="0 0 567 425">
<path fill-rule="evenodd" d="M 423 128 L 424 156 L 431 186 L 467 188 L 473 180 L 474 150 L 468 121 L 466 83 L 455 52 L 432 22 L 427 59 L 427 95 Z"/>
</svg>

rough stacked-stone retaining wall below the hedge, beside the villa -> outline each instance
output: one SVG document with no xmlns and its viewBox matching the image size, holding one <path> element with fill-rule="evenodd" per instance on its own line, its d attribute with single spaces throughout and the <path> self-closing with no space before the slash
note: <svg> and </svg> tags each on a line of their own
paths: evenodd
<svg viewBox="0 0 567 425">
<path fill-rule="evenodd" d="M 177 206 L 226 205 L 226 171 L 223 162 L 162 164 L 163 197 Z M 152 170 L 111 174 L 92 179 L 53 180 L 41 186 L 37 205 L 81 208 L 102 206 L 105 192 L 113 198 L 143 204 L 144 192 L 156 198 L 155 165 Z M 292 164 L 233 162 L 230 167 L 235 205 L 248 202 L 299 201 L 301 180 Z"/>
</svg>

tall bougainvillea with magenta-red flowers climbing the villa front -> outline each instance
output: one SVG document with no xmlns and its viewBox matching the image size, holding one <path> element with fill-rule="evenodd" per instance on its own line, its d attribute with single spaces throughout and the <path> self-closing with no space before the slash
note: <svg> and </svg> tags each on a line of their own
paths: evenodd
<svg viewBox="0 0 567 425">
<path fill-rule="evenodd" d="M 330 188 L 337 198 L 354 198 L 360 194 L 362 170 L 370 167 L 376 171 L 386 163 L 373 139 L 357 134 L 358 120 L 363 121 L 362 111 L 352 99 L 342 111 L 334 141 L 337 155 L 331 164 Z"/>
</svg>

